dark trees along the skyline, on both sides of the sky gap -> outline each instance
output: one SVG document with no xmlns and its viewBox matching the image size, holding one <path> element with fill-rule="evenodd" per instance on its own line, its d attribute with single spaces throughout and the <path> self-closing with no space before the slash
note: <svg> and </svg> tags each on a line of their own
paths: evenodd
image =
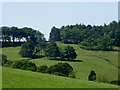
<svg viewBox="0 0 120 90">
<path fill-rule="evenodd" d="M 60 29 L 54 26 L 51 29 L 49 41 L 80 44 L 81 48 L 89 50 L 112 50 L 112 46 L 120 46 L 119 29 L 120 21 L 112 21 L 108 25 L 100 26 L 76 24 L 62 26 Z M 3 26 L 0 28 L 0 32 L 2 32 L 0 41 L 3 46 L 11 46 L 10 43 L 26 42 L 29 39 L 34 41 L 36 37 L 44 38 L 44 34 L 28 27 Z"/>
</svg>

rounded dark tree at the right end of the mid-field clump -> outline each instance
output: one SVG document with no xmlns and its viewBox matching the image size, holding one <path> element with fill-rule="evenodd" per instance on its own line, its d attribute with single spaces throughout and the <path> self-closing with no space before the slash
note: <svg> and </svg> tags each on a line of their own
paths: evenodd
<svg viewBox="0 0 120 90">
<path fill-rule="evenodd" d="M 67 46 L 64 48 L 61 57 L 63 59 L 67 59 L 67 60 L 74 60 L 77 57 L 77 54 L 76 54 L 75 49 L 73 47 Z"/>
</svg>

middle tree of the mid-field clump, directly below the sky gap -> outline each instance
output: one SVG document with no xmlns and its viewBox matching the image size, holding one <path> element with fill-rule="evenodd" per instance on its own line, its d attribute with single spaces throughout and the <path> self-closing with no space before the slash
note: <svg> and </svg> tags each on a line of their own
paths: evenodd
<svg viewBox="0 0 120 90">
<path fill-rule="evenodd" d="M 60 57 L 59 47 L 55 42 L 48 43 L 45 51 L 46 56 L 50 59 L 56 59 L 57 57 Z"/>
</svg>

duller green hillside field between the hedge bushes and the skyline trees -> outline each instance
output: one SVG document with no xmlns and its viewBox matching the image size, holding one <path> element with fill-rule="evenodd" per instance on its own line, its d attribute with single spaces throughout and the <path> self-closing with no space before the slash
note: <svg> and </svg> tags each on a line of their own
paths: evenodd
<svg viewBox="0 0 120 90">
<path fill-rule="evenodd" d="M 58 43 L 60 47 L 66 46 L 66 44 Z M 91 70 L 95 70 L 97 75 L 102 74 L 106 76 L 108 80 L 115 80 L 118 77 L 118 52 L 101 52 L 101 51 L 88 51 L 79 48 L 78 45 L 72 44 L 76 49 L 78 54 L 76 60 L 81 60 L 82 62 L 68 62 L 74 68 L 77 78 L 82 80 L 87 80 L 87 77 Z M 8 59 L 16 61 L 22 59 L 19 55 L 20 47 L 9 47 L 3 48 L 3 53 L 7 55 Z M 57 61 L 57 60 L 48 60 L 45 58 L 33 59 L 32 62 L 36 63 L 37 66 L 40 65 L 53 65 L 58 62 L 67 62 L 67 61 Z"/>
</svg>

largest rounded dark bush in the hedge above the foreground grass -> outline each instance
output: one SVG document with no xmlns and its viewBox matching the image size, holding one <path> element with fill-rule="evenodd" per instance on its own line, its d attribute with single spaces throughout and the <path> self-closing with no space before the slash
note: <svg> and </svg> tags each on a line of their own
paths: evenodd
<svg viewBox="0 0 120 90">
<path fill-rule="evenodd" d="M 58 63 L 48 68 L 48 73 L 66 77 L 68 77 L 72 71 L 73 68 L 68 63 Z"/>
</svg>

